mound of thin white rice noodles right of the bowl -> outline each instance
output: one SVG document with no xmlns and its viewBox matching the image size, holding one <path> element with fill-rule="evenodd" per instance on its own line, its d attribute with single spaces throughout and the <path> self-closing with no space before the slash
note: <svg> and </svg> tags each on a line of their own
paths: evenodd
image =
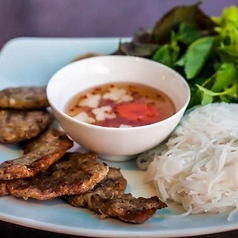
<svg viewBox="0 0 238 238">
<path fill-rule="evenodd" d="M 149 155 L 149 156 L 148 156 Z M 143 153 L 148 181 L 186 215 L 238 209 L 238 105 L 213 103 L 187 113 L 163 145 Z"/>
</svg>

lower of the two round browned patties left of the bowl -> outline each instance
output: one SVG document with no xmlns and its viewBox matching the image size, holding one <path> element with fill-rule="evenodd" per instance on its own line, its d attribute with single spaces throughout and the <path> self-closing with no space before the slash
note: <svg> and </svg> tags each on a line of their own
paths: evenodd
<svg viewBox="0 0 238 238">
<path fill-rule="evenodd" d="M 0 110 L 0 143 L 18 143 L 39 135 L 53 122 L 46 111 Z"/>
</svg>

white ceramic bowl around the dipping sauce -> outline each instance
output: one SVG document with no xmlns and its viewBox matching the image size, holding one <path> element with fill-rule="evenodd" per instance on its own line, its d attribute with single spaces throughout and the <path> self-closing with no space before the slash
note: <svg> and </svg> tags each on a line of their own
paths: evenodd
<svg viewBox="0 0 238 238">
<path fill-rule="evenodd" d="M 170 96 L 176 113 L 170 118 L 140 127 L 109 128 L 80 122 L 64 110 L 79 92 L 115 82 L 143 83 Z M 103 159 L 124 161 L 161 143 L 181 120 L 190 99 L 185 79 L 152 60 L 132 56 L 98 56 L 71 63 L 50 79 L 47 96 L 55 117 L 66 133 L 82 147 Z"/>
</svg>

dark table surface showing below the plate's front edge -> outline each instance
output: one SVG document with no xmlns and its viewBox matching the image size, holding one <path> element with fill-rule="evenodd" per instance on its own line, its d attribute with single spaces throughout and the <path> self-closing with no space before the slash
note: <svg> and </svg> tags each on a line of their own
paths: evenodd
<svg viewBox="0 0 238 238">
<path fill-rule="evenodd" d="M 74 235 L 65 235 L 54 232 L 42 231 L 33 228 L 23 227 L 15 224 L 11 224 L 8 222 L 0 221 L 0 234 L 1 238 L 12 238 L 12 237 L 34 237 L 34 238 L 74 238 L 82 236 L 74 236 Z M 222 232 L 216 234 L 209 235 L 201 235 L 201 236 L 193 236 L 193 238 L 232 238 L 238 236 L 238 230 Z M 145 237 L 146 238 L 146 237 Z"/>
</svg>

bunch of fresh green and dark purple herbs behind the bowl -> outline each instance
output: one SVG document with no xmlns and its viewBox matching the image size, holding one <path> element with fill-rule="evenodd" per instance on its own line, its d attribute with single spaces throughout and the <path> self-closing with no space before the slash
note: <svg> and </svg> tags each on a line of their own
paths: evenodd
<svg viewBox="0 0 238 238">
<path fill-rule="evenodd" d="M 238 8 L 212 17 L 200 4 L 175 7 L 152 29 L 120 42 L 118 52 L 152 59 L 183 75 L 191 90 L 189 107 L 238 103 Z"/>
</svg>

